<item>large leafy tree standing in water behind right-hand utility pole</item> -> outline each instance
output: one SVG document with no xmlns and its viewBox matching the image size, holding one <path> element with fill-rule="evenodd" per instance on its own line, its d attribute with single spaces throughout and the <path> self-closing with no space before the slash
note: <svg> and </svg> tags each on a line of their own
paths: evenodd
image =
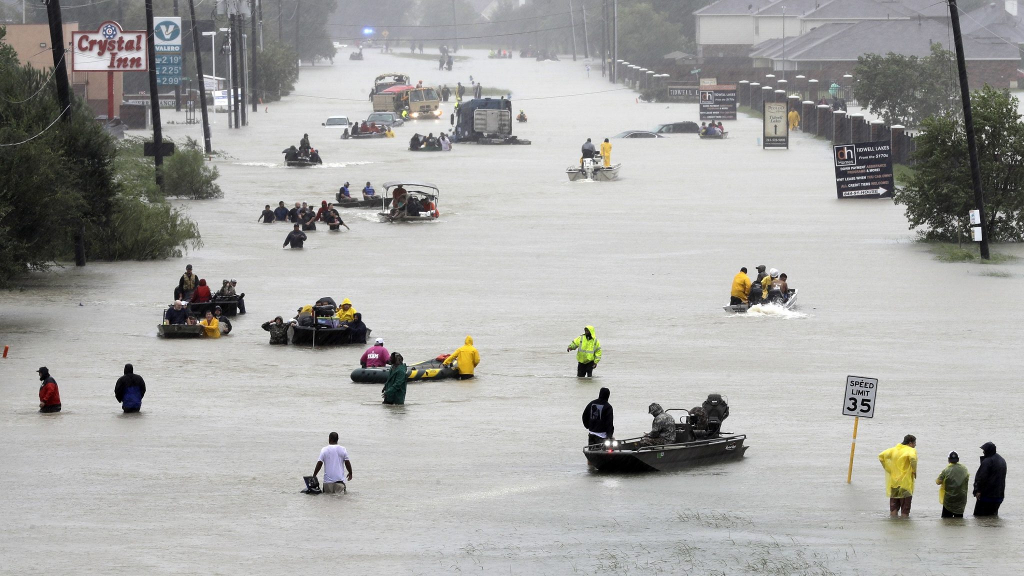
<svg viewBox="0 0 1024 576">
<path fill-rule="evenodd" d="M 986 220 L 993 242 L 1024 240 L 1024 123 L 1018 100 L 986 85 L 971 94 Z M 926 119 L 915 138 L 914 174 L 894 200 L 906 206 L 910 229 L 928 240 L 967 239 L 974 209 L 967 135 L 959 119 Z"/>
</svg>

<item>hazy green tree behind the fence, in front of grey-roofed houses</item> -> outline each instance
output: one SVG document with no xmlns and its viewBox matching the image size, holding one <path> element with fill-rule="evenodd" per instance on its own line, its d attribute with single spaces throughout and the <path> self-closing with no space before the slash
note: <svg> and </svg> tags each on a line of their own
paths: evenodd
<svg viewBox="0 0 1024 576">
<path fill-rule="evenodd" d="M 919 126 L 932 116 L 956 115 L 959 82 L 955 55 L 939 43 L 923 58 L 889 52 L 857 57 L 857 101 L 888 124 Z"/>
</svg>

